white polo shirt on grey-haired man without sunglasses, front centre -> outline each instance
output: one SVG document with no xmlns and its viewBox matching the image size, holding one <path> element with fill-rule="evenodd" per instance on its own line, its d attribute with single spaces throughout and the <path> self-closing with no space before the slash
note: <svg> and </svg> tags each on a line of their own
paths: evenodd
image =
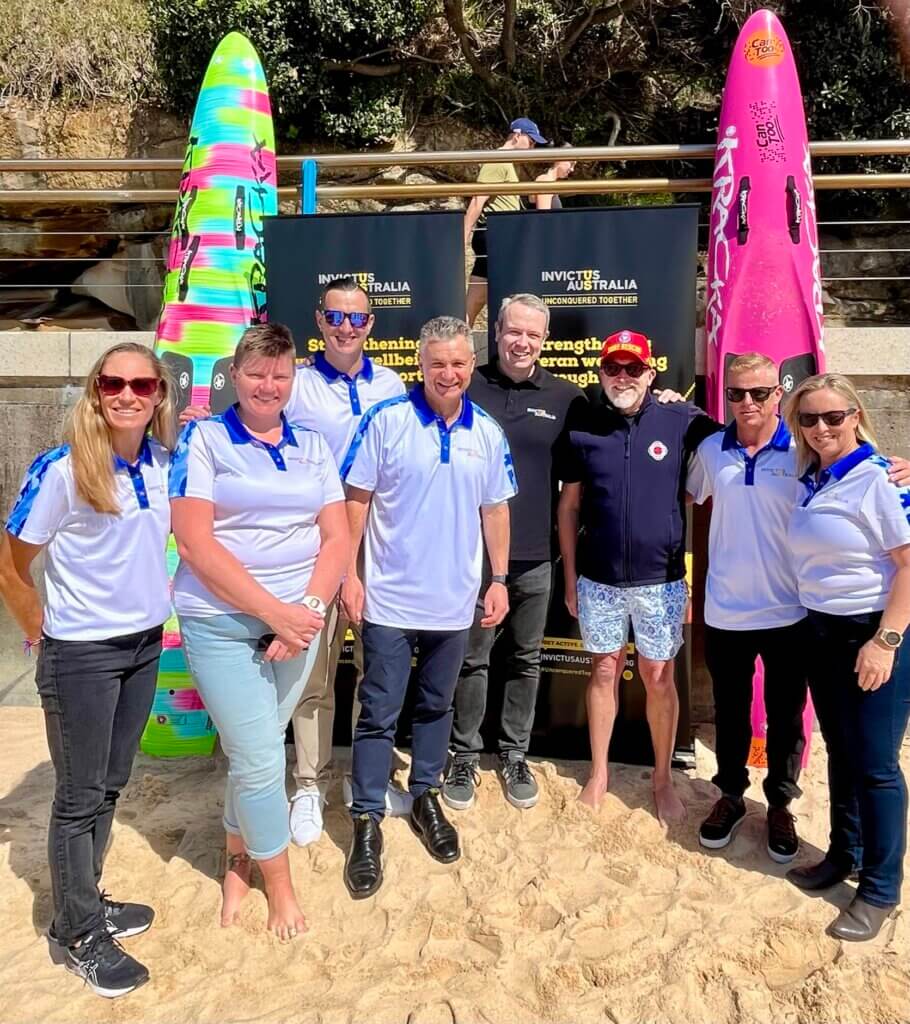
<svg viewBox="0 0 910 1024">
<path fill-rule="evenodd" d="M 373 492 L 363 617 L 400 629 L 467 629 L 480 590 L 480 508 L 518 492 L 499 424 L 465 395 L 446 427 L 418 385 L 363 417 L 342 477 Z"/>
</svg>

